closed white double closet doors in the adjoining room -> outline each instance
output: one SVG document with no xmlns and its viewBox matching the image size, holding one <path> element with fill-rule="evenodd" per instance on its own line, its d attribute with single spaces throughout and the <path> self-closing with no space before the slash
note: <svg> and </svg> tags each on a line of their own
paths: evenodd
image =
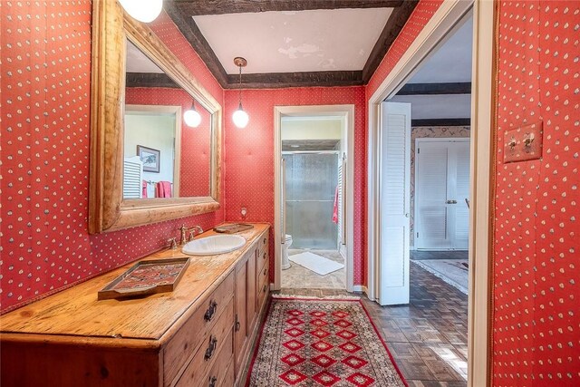
<svg viewBox="0 0 580 387">
<path fill-rule="evenodd" d="M 469 139 L 418 139 L 415 248 L 468 248 Z"/>
</svg>

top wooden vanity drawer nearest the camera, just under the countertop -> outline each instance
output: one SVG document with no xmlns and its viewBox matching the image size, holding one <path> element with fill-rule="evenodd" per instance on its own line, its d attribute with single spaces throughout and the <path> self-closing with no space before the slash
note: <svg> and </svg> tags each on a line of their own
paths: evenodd
<svg viewBox="0 0 580 387">
<path fill-rule="evenodd" d="M 181 326 L 178 333 L 171 338 L 163 352 L 163 380 L 170 385 L 180 370 L 189 362 L 198 346 L 205 344 L 205 336 L 223 314 L 234 295 L 234 273 L 214 290 L 205 301 L 199 304 L 198 310 Z M 230 318 L 230 323 L 233 318 Z"/>
</svg>

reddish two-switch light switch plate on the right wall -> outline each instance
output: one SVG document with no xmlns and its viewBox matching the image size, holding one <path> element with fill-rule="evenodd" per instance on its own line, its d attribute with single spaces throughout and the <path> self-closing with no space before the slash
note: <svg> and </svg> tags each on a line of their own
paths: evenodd
<svg viewBox="0 0 580 387">
<path fill-rule="evenodd" d="M 542 121 L 506 131 L 504 163 L 540 159 L 542 138 Z"/>
</svg>

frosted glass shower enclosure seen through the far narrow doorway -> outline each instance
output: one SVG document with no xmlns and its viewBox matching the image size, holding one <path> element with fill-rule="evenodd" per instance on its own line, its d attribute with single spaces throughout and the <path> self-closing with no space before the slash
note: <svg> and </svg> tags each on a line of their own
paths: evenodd
<svg viewBox="0 0 580 387">
<path fill-rule="evenodd" d="M 337 249 L 338 152 L 285 152 L 285 232 L 293 248 Z"/>
</svg>

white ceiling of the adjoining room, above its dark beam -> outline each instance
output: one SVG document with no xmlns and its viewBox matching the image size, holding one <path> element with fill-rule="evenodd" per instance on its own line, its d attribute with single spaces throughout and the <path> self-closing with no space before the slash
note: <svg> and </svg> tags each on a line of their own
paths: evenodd
<svg viewBox="0 0 580 387">
<path fill-rule="evenodd" d="M 473 16 L 421 63 L 408 83 L 471 82 Z"/>
</svg>

